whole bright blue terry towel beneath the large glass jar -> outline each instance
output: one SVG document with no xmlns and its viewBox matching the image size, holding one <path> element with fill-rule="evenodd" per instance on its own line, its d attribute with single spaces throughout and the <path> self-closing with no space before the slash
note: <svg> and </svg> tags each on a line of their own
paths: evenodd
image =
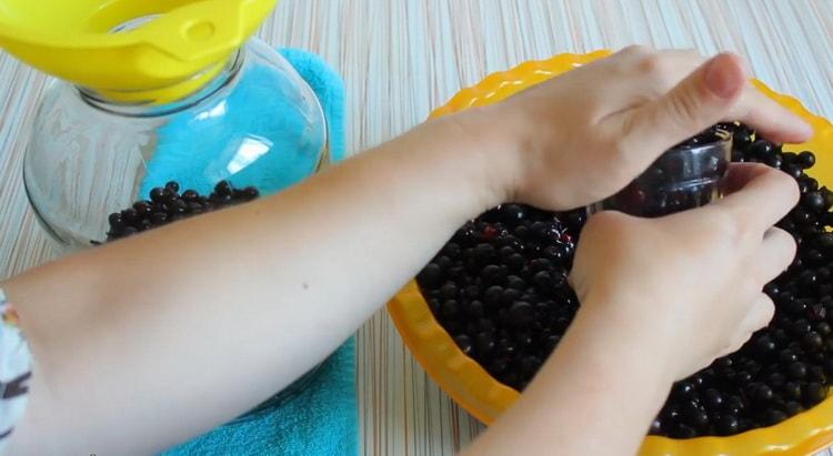
<svg viewBox="0 0 833 456">
<path fill-rule="evenodd" d="M 330 158 L 344 158 L 344 85 L 339 75 L 317 55 L 295 49 L 280 53 L 298 70 L 318 95 L 328 122 Z M 263 129 L 284 132 L 292 119 L 274 115 L 281 101 L 269 103 L 272 115 L 262 115 L 265 103 L 258 101 L 258 87 L 270 78 L 257 68 L 247 73 L 240 87 L 227 100 L 223 124 L 212 135 L 190 133 L 192 120 L 172 119 L 159 132 L 157 150 L 148 163 L 142 194 L 167 180 L 178 180 L 182 188 L 210 191 L 214 179 L 207 164 L 229 153 L 239 144 L 228 144 L 234 129 Z M 275 108 L 278 107 L 278 108 Z M 265 113 L 269 114 L 269 113 Z M 227 138 L 228 136 L 228 138 Z M 274 134 L 272 134 L 274 136 Z M 187 145 L 187 146 L 185 146 Z M 264 159 L 271 155 L 265 155 Z M 295 162 L 287 158 L 297 156 Z M 254 182 L 264 193 L 281 190 L 309 174 L 305 155 L 281 154 L 274 160 L 258 160 L 243 172 L 244 181 Z M 208 170 L 208 172 L 207 172 Z M 275 170 L 280 170 L 278 173 Z M 252 175 L 251 173 L 257 173 Z M 269 341 L 263 343 L 268 344 Z M 311 376 L 303 388 L 287 401 L 267 401 L 252 413 L 220 426 L 191 442 L 171 448 L 165 456 L 179 455 L 354 455 L 358 453 L 358 414 L 355 404 L 355 349 L 350 338 Z M 290 386 L 292 388 L 292 386 Z"/>
</svg>

